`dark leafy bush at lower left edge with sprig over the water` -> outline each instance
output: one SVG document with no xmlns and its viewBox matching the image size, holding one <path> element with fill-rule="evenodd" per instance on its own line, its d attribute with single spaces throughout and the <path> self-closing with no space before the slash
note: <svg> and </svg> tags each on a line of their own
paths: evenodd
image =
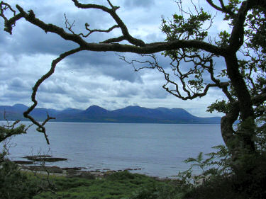
<svg viewBox="0 0 266 199">
<path fill-rule="evenodd" d="M 28 130 L 26 125 L 18 125 L 20 121 L 0 126 L 0 144 L 3 147 L 0 152 L 0 195 L 1 199 L 28 199 L 33 198 L 42 191 L 54 188 L 49 176 L 41 178 L 38 174 L 28 175 L 21 171 L 17 164 L 7 158 L 11 138 L 16 135 L 25 134 Z"/>
</svg>

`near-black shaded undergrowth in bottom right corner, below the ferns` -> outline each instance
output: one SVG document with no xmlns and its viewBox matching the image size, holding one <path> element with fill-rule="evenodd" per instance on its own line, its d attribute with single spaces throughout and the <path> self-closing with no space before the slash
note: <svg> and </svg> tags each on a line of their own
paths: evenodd
<svg viewBox="0 0 266 199">
<path fill-rule="evenodd" d="M 203 183 L 193 185 L 185 198 L 265 198 L 265 157 L 249 157 L 245 163 L 256 169 L 238 168 L 229 176 L 211 174 Z"/>
</svg>

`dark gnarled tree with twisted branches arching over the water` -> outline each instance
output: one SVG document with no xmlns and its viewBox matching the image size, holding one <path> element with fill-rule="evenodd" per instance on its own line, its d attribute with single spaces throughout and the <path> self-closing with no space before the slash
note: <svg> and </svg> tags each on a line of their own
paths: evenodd
<svg viewBox="0 0 266 199">
<path fill-rule="evenodd" d="M 52 118 L 48 115 L 47 120 L 38 123 L 30 115 L 38 104 L 35 96 L 40 84 L 55 72 L 57 63 L 65 57 L 81 51 L 113 51 L 148 55 L 151 59 L 144 62 L 148 64 L 144 67 L 158 69 L 162 72 L 166 81 L 163 88 L 177 98 L 192 100 L 206 96 L 210 88 L 221 89 L 227 99 L 216 101 L 209 106 L 209 111 L 216 110 L 225 114 L 221 119 L 224 142 L 231 152 L 235 152 L 235 156 L 238 156 L 237 152 L 240 149 L 248 153 L 257 152 L 265 127 L 263 124 L 265 123 L 266 101 L 266 1 L 206 0 L 211 8 L 223 14 L 224 21 L 227 21 L 231 27 L 231 32 L 222 31 L 213 36 L 209 34 L 209 28 L 216 20 L 215 16 L 211 16 L 208 11 L 204 11 L 203 7 L 194 4 L 194 1 L 191 1 L 193 10 L 185 11 L 182 1 L 179 0 L 177 1 L 179 11 L 173 14 L 172 19 L 162 18 L 161 30 L 166 35 L 165 41 L 151 43 L 134 38 L 116 12 L 119 6 L 114 6 L 109 0 L 106 1 L 108 6 L 82 4 L 77 0 L 72 0 L 73 6 L 77 8 L 96 9 L 113 19 L 114 25 L 106 29 L 90 29 L 89 24 L 85 23 L 86 34 L 75 33 L 66 17 L 65 27 L 59 27 L 41 21 L 33 10 L 24 11 L 22 6 L 16 5 L 16 8 L 13 8 L 4 1 L 0 2 L 0 16 L 4 19 L 6 32 L 12 34 L 16 23 L 23 18 L 45 33 L 54 33 L 78 45 L 72 50 L 62 52 L 52 61 L 50 71 L 33 86 L 31 96 L 33 105 L 24 113 L 24 117 L 38 126 L 38 131 L 45 135 L 47 142 L 49 143 L 49 140 L 44 125 Z M 92 34 L 108 34 L 114 29 L 121 30 L 121 35 L 101 42 L 87 40 Z M 156 52 L 161 52 L 162 55 L 171 59 L 172 74 L 166 72 L 164 66 L 160 66 L 157 62 L 157 57 L 153 54 Z M 216 66 L 217 57 L 223 57 L 224 67 Z M 126 60 L 125 57 L 121 58 Z M 143 63 L 138 60 L 129 63 L 135 62 Z M 184 69 L 184 62 L 191 66 L 187 71 Z M 208 79 L 206 79 L 206 74 L 209 76 Z M 172 79 L 172 76 L 177 80 Z M 240 121 L 240 125 L 235 130 L 233 124 L 237 120 Z M 262 126 L 256 127 L 257 123 Z"/>
</svg>

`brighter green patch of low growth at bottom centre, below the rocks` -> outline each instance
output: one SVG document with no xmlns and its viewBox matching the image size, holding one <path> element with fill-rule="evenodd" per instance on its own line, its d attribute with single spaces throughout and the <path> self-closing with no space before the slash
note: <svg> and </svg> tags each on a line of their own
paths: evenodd
<svg viewBox="0 0 266 199">
<path fill-rule="evenodd" d="M 167 186 L 167 182 L 158 181 L 155 178 L 131 174 L 128 171 L 121 171 L 110 174 L 101 179 L 66 178 L 65 176 L 52 177 L 57 188 L 56 195 L 51 192 L 36 195 L 40 198 L 139 198 L 145 195 L 145 191 L 150 194 L 157 188 Z"/>
</svg>

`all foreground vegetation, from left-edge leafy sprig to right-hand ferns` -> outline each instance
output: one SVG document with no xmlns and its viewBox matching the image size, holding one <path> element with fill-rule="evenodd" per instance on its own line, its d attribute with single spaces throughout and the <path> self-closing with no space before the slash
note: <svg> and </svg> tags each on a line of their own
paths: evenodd
<svg viewBox="0 0 266 199">
<path fill-rule="evenodd" d="M 21 171 L 6 159 L 9 154 L 7 139 L 16 135 L 24 126 L 3 126 L 0 130 L 4 150 L 0 153 L 0 198 L 128 198 L 128 199 L 183 199 L 183 198 L 266 198 L 266 151 L 265 129 L 257 140 L 260 153 L 243 154 L 237 161 L 229 149 L 217 146 L 216 152 L 202 153 L 187 159 L 193 166 L 199 166 L 202 173 L 192 176 L 192 168 L 179 173 L 177 179 L 158 180 L 128 171 L 106 174 L 103 178 L 92 175 L 84 178 L 40 175 Z M 260 130 L 260 129 L 258 129 Z M 12 132 L 12 133 L 11 133 Z M 10 135 L 10 136 L 9 136 Z M 7 138 L 6 138 L 7 137 Z M 260 141 L 260 142 L 259 142 Z M 247 166 L 248 164 L 248 166 Z M 252 169 L 250 169 L 252 168 Z"/>
</svg>

